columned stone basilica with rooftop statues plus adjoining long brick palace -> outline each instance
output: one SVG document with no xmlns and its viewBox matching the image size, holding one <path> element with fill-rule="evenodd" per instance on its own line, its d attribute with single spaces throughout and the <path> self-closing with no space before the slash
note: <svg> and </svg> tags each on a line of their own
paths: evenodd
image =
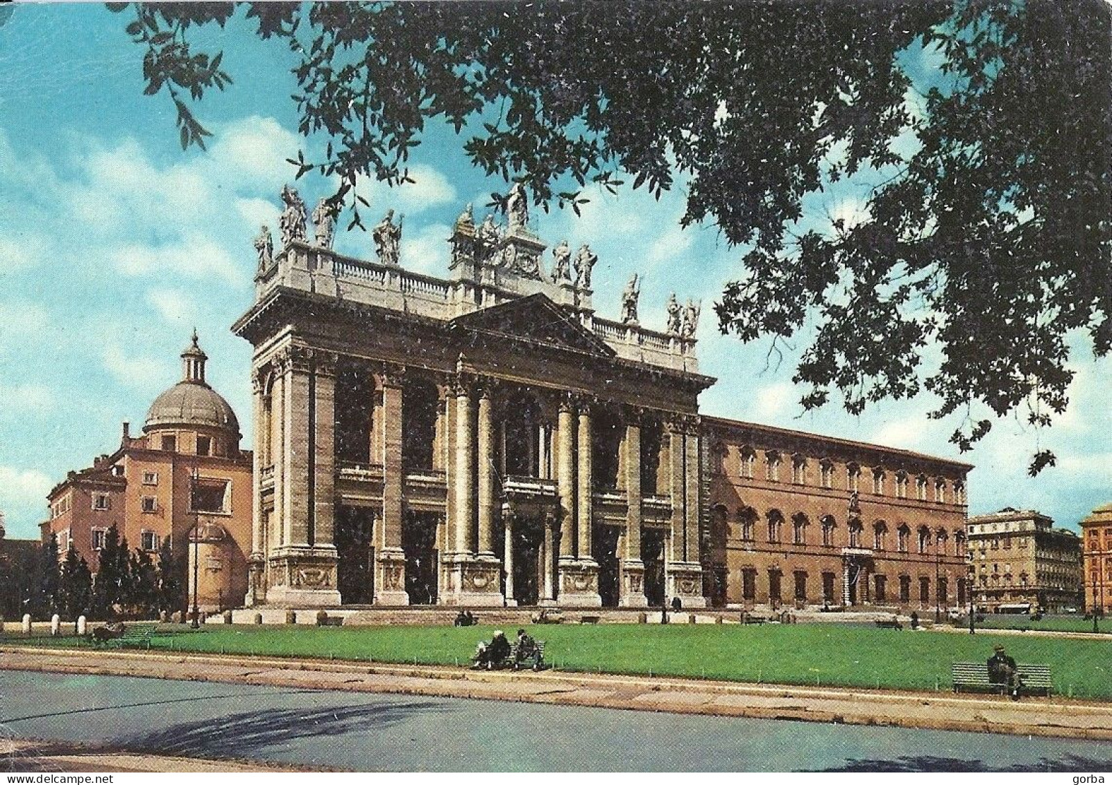
<svg viewBox="0 0 1112 785">
<path fill-rule="evenodd" d="M 445 279 L 399 264 L 393 215 L 377 258 L 357 259 L 331 249 L 327 210 L 310 237 L 296 192 L 284 200 L 280 248 L 267 230 L 256 241 L 255 302 L 234 327 L 255 347 L 248 605 L 914 605 L 923 577 L 932 597 L 943 575 L 962 585 L 971 467 L 701 417 L 715 380 L 698 307 L 673 298 L 651 329 L 635 277 L 620 319 L 599 317 L 597 257 L 549 250 L 519 187 L 507 226 L 460 215 Z M 757 456 L 775 470 L 755 478 Z M 891 493 L 858 490 L 877 471 Z M 798 515 L 811 534 L 781 539 L 773 523 Z M 866 520 L 891 553 L 865 541 Z M 901 526 L 930 545 L 897 547 Z M 914 596 L 876 582 L 890 562 Z"/>
</svg>

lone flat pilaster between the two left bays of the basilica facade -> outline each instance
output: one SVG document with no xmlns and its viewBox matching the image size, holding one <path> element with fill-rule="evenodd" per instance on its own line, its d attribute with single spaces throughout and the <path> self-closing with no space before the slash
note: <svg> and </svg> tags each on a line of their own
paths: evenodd
<svg viewBox="0 0 1112 785">
<path fill-rule="evenodd" d="M 381 372 L 383 417 L 379 445 L 383 465 L 383 514 L 376 521 L 375 604 L 408 605 L 406 554 L 401 549 L 401 411 L 405 368 L 385 365 Z"/>
</svg>

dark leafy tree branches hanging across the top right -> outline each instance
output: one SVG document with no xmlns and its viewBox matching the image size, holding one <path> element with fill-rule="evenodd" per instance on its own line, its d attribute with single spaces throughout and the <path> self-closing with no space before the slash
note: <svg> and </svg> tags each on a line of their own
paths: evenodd
<svg viewBox="0 0 1112 785">
<path fill-rule="evenodd" d="M 683 223 L 713 222 L 741 251 L 721 328 L 805 331 L 806 408 L 836 390 L 857 413 L 925 384 L 933 416 L 971 413 L 953 436 L 969 449 L 991 427 L 976 408 L 1026 407 L 1035 426 L 1064 409 L 1071 331 L 1099 356 L 1112 345 L 1099 0 L 128 7 L 147 92 L 169 92 L 183 147 L 208 133 L 189 99 L 231 80 L 191 33 L 240 8 L 294 53 L 299 130 L 327 140 L 299 175 L 336 177 L 356 225 L 356 179 L 406 181 L 431 121 L 545 209 L 577 209 L 587 183 L 659 197 L 684 182 Z M 924 49 L 939 70 L 913 81 Z M 807 196 L 864 172 L 860 220 L 801 222 Z"/>
</svg>

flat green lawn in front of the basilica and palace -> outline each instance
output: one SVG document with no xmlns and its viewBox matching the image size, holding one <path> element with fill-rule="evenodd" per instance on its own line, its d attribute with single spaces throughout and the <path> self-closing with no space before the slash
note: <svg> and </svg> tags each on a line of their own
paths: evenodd
<svg viewBox="0 0 1112 785">
<path fill-rule="evenodd" d="M 454 665 L 469 662 L 476 642 L 489 638 L 492 632 L 493 627 L 481 626 L 215 626 L 156 636 L 152 647 Z M 992 646 L 1002 643 L 1020 663 L 1049 664 L 1056 693 L 1112 698 L 1112 645 L 1106 640 L 834 624 L 552 625 L 530 632 L 547 642 L 546 659 L 563 670 L 911 689 L 949 689 L 952 662 L 983 662 Z M 11 635 L 0 638 L 0 643 L 18 640 Z M 38 642 L 88 645 L 73 638 Z"/>
</svg>

